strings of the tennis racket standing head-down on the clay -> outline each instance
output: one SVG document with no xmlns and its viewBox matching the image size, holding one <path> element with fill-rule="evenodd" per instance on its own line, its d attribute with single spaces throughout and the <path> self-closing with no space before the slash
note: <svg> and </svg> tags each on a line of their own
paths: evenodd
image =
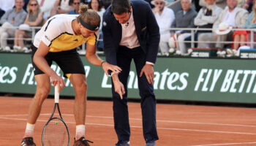
<svg viewBox="0 0 256 146">
<path fill-rule="evenodd" d="M 45 128 L 44 134 L 45 146 L 64 146 L 69 143 L 69 134 L 67 127 L 59 119 L 50 120 Z"/>
</svg>

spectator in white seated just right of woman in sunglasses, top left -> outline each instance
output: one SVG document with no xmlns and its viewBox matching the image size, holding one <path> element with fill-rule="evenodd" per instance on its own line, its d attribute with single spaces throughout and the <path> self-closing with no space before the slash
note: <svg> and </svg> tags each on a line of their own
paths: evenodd
<svg viewBox="0 0 256 146">
<path fill-rule="evenodd" d="M 42 18 L 47 20 L 50 18 L 50 9 L 53 9 L 56 0 L 37 0 L 40 5 L 41 12 L 43 13 Z"/>
</svg>

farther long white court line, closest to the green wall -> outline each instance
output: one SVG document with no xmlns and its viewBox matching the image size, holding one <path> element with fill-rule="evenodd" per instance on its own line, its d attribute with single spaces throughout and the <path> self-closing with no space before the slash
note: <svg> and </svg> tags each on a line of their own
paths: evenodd
<svg viewBox="0 0 256 146">
<path fill-rule="evenodd" d="M 28 116 L 28 114 L 21 114 L 21 115 L 0 115 L 0 117 L 5 116 Z M 51 115 L 49 114 L 40 114 L 40 115 Z M 61 114 L 67 116 L 74 116 L 73 114 Z M 86 115 L 86 117 L 91 118 L 109 118 L 113 119 L 113 117 L 106 117 L 106 116 L 96 116 L 96 115 Z M 129 120 L 141 120 L 141 118 L 129 118 Z M 241 126 L 241 127 L 256 127 L 252 125 L 241 125 L 241 124 L 230 124 L 230 123 L 201 123 L 201 122 L 188 122 L 188 121 L 179 121 L 179 120 L 157 120 L 157 122 L 164 122 L 164 123 L 190 123 L 190 124 L 202 124 L 202 125 L 216 125 L 216 126 Z"/>
</svg>

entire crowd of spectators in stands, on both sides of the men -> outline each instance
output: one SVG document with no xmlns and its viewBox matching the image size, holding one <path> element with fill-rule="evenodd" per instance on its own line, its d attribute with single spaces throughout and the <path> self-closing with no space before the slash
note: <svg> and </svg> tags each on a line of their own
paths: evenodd
<svg viewBox="0 0 256 146">
<path fill-rule="evenodd" d="M 0 0 L 0 47 L 28 51 L 23 38 L 31 38 L 30 27 L 42 26 L 56 14 L 77 15 L 80 3 L 88 4 L 102 18 L 110 1 Z M 185 55 L 190 47 L 200 47 L 217 48 L 219 55 L 237 55 L 239 47 L 250 47 L 251 31 L 246 28 L 256 28 L 256 0 L 145 1 L 151 4 L 160 28 L 159 53 Z M 192 33 L 189 28 L 198 30 Z M 256 31 L 253 33 L 256 40 Z M 99 34 L 97 49 L 103 50 L 102 32 Z M 7 45 L 8 38 L 14 38 L 13 45 Z M 192 40 L 195 43 L 191 43 Z"/>
</svg>

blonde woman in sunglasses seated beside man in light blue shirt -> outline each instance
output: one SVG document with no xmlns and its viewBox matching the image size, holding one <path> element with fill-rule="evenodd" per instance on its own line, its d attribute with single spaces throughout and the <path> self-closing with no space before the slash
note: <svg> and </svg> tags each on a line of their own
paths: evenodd
<svg viewBox="0 0 256 146">
<path fill-rule="evenodd" d="M 14 50 L 28 50 L 27 47 L 24 47 L 23 38 L 31 38 L 32 33 L 29 31 L 29 26 L 42 26 L 42 12 L 40 11 L 37 0 L 29 1 L 27 11 L 28 14 L 26 15 L 24 24 L 20 25 L 20 28 L 15 31 Z M 22 28 L 22 26 L 25 28 Z"/>
</svg>

